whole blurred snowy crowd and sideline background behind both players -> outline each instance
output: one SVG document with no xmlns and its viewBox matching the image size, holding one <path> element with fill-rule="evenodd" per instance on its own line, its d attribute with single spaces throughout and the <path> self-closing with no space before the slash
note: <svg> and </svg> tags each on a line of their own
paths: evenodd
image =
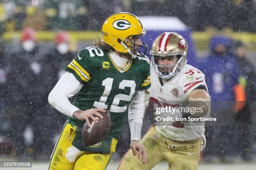
<svg viewBox="0 0 256 170">
<path fill-rule="evenodd" d="M 1 159 L 49 161 L 67 117 L 48 94 L 77 51 L 100 38 L 103 21 L 122 11 L 179 18 L 192 30 L 194 66 L 205 73 L 212 100 L 256 100 L 256 0 L 0 0 Z M 153 117 L 149 110 L 143 134 Z M 129 148 L 127 130 L 116 159 Z M 255 161 L 255 127 L 206 127 L 205 134 L 202 160 Z"/>
</svg>

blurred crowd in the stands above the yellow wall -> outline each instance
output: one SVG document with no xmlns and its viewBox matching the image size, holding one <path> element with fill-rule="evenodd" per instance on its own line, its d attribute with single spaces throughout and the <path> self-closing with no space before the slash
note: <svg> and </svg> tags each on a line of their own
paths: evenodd
<svg viewBox="0 0 256 170">
<path fill-rule="evenodd" d="M 255 0 L 1 0 L 1 30 L 100 30 L 106 16 L 177 16 L 192 30 L 256 31 Z M 220 19 L 221 18 L 221 19 Z"/>
</svg>

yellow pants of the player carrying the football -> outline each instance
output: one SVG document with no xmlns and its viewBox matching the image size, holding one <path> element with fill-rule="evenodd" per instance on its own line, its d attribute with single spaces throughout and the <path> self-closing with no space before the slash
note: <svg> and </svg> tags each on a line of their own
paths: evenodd
<svg viewBox="0 0 256 170">
<path fill-rule="evenodd" d="M 51 155 L 48 170 L 105 170 L 111 158 L 111 153 L 98 154 L 85 152 L 79 155 L 74 163 L 70 163 L 69 160 L 67 160 L 67 149 L 72 146 L 75 133 L 76 128 L 72 128 L 72 126 L 66 122 Z M 115 146 L 113 148 L 115 148 Z"/>
</svg>

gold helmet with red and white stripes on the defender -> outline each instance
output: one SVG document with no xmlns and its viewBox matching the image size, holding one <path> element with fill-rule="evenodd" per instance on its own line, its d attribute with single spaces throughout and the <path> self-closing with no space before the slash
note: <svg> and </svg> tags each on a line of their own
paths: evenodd
<svg viewBox="0 0 256 170">
<path fill-rule="evenodd" d="M 170 79 L 187 63 L 187 41 L 176 32 L 164 32 L 154 40 L 150 55 L 156 74 Z M 174 56 L 174 60 L 178 58 L 178 61 L 174 65 L 159 65 L 158 57 L 166 56 Z M 169 67 L 169 72 L 161 72 L 159 67 Z"/>
</svg>

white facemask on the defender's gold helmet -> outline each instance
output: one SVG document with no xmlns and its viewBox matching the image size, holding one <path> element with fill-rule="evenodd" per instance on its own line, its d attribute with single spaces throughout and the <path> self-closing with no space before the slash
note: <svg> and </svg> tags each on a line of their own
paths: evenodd
<svg viewBox="0 0 256 170">
<path fill-rule="evenodd" d="M 182 69 L 182 62 L 185 59 L 182 53 L 158 55 L 153 52 L 150 52 L 150 55 L 151 55 L 151 59 L 152 59 L 156 74 L 163 79 L 171 79 L 172 77 L 174 77 L 174 75 L 176 75 Z M 174 61 L 176 61 L 176 59 L 178 58 L 178 61 L 172 65 L 159 65 L 158 57 L 169 57 L 169 56 L 174 56 Z M 166 72 L 161 71 L 161 68 L 164 68 L 164 67 L 168 67 L 168 70 L 166 70 Z"/>
</svg>

